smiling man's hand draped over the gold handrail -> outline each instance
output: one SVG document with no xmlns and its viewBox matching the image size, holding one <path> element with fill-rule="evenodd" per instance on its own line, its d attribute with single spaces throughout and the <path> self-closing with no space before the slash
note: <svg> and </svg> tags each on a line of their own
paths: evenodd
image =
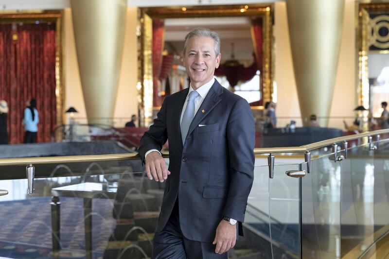
<svg viewBox="0 0 389 259">
<path fill-rule="evenodd" d="M 166 169 L 165 160 L 157 152 L 153 151 L 147 155 L 146 158 L 146 173 L 150 180 L 163 182 L 167 179 L 170 172 Z"/>
</svg>

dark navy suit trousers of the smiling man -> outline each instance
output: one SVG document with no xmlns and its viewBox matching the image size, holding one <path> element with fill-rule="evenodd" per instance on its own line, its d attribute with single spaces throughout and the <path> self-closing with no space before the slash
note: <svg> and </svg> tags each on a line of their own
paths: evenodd
<svg viewBox="0 0 389 259">
<path fill-rule="evenodd" d="M 227 259 L 227 253 L 215 253 L 212 243 L 192 241 L 182 235 L 179 226 L 178 199 L 172 214 L 161 232 L 153 239 L 152 259 Z"/>
</svg>

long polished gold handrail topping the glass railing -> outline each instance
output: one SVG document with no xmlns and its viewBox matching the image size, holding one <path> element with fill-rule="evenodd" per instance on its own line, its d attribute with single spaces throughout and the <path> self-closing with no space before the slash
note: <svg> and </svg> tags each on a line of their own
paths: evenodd
<svg viewBox="0 0 389 259">
<path fill-rule="evenodd" d="M 361 134 L 355 134 L 339 138 L 331 138 L 316 143 L 303 145 L 301 147 L 277 147 L 277 148 L 255 148 L 254 154 L 280 154 L 280 153 L 305 153 L 332 145 L 336 142 L 349 141 L 353 139 L 375 136 L 380 134 L 389 134 L 389 129 L 375 130 Z M 169 157 L 168 152 L 162 152 L 164 158 Z M 132 154 L 112 154 L 112 155 L 70 155 L 70 156 L 47 156 L 47 157 L 26 157 L 26 158 L 2 158 L 0 166 L 15 166 L 29 164 L 55 164 L 55 163 L 76 163 L 76 162 L 97 162 L 97 161 L 116 161 L 116 160 L 138 160 L 140 155 Z"/>
</svg>

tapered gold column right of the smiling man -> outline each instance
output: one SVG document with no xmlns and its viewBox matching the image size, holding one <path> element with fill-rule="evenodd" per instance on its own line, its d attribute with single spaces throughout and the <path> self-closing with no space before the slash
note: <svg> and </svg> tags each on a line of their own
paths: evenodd
<svg viewBox="0 0 389 259">
<path fill-rule="evenodd" d="M 301 117 L 329 117 L 344 0 L 286 0 L 286 8 Z"/>
</svg>

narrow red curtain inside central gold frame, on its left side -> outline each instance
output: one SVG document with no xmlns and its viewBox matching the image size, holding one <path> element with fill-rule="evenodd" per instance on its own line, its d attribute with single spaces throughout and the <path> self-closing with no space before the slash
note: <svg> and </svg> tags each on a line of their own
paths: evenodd
<svg viewBox="0 0 389 259">
<path fill-rule="evenodd" d="M 153 19 L 153 42 L 152 42 L 152 62 L 153 62 L 153 106 L 162 105 L 163 97 L 159 96 L 160 81 L 159 73 L 162 64 L 162 51 L 164 44 L 164 20 Z"/>
</svg>

